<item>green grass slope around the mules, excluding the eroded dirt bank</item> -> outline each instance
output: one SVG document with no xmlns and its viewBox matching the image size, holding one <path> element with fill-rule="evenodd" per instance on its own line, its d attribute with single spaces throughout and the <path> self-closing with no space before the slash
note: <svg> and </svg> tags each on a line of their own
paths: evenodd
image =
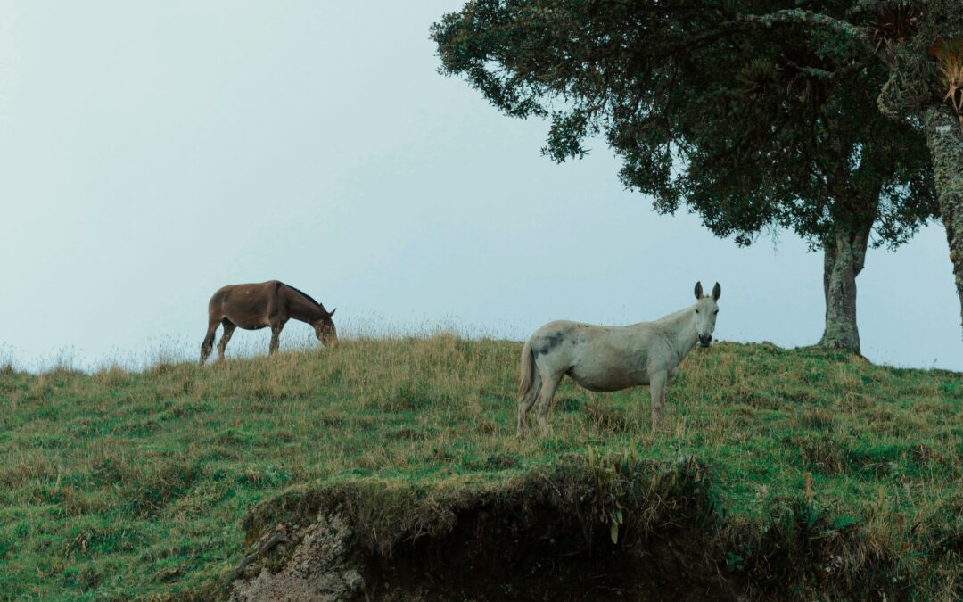
<svg viewBox="0 0 963 602">
<path fill-rule="evenodd" d="M 566 381 L 556 435 L 518 441 L 520 348 L 441 335 L 136 374 L 0 372 L 0 596 L 196 596 L 249 551 L 245 518 L 285 492 L 497 488 L 589 450 L 697 458 L 731 528 L 765 538 L 802 501 L 887 555 L 901 591 L 963 592 L 960 374 L 720 344 L 670 382 L 665 432 L 649 430 L 647 388 Z M 742 570 L 749 553 L 730 553 Z"/>
</svg>

